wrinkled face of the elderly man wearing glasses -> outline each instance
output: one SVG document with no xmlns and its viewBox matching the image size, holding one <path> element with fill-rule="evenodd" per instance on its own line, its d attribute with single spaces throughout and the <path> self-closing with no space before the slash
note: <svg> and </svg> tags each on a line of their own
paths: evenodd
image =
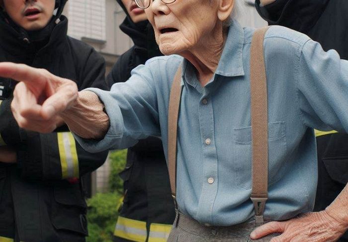
<svg viewBox="0 0 348 242">
<path fill-rule="evenodd" d="M 170 4 L 154 0 L 145 11 L 165 55 L 194 48 L 212 34 L 218 21 L 217 6 L 211 0 L 176 0 Z"/>
</svg>

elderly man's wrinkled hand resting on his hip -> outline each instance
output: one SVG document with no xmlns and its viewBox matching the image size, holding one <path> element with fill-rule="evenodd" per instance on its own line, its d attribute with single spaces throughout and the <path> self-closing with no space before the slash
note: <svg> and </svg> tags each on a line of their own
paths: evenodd
<svg viewBox="0 0 348 242">
<path fill-rule="evenodd" d="M 347 226 L 328 211 L 307 213 L 284 222 L 270 222 L 257 228 L 251 239 L 281 233 L 270 242 L 335 242 Z"/>
</svg>

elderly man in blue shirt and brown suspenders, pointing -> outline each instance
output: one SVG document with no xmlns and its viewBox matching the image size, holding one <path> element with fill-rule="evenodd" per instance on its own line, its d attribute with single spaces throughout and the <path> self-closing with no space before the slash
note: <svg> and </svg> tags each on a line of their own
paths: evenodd
<svg viewBox="0 0 348 242">
<path fill-rule="evenodd" d="M 259 184 L 269 184 L 263 210 L 264 199 L 254 197 L 255 206 L 250 199 L 255 129 L 250 64 L 262 63 L 262 55 L 250 59 L 255 29 L 231 19 L 235 0 L 136 2 L 168 56 L 136 68 L 110 92 L 78 92 L 74 82 L 46 71 L 0 64 L 0 76 L 22 81 L 12 102 L 19 125 L 50 130 L 62 117 L 83 147 L 94 152 L 162 135 L 165 150 L 171 142 L 166 156 L 173 161 L 176 154 L 177 161 L 178 210 L 170 242 L 337 240 L 348 229 L 348 188 L 324 211 L 310 212 L 317 183 L 313 128 L 348 131 L 348 62 L 280 26 L 269 28 L 259 42 L 268 96 L 268 169 L 261 166 L 268 183 Z M 167 141 L 168 132 L 175 133 L 175 118 L 168 118 L 174 76 L 174 86 L 182 90 L 173 94 L 179 103 L 177 140 Z M 256 156 L 261 154 L 264 150 Z"/>
</svg>

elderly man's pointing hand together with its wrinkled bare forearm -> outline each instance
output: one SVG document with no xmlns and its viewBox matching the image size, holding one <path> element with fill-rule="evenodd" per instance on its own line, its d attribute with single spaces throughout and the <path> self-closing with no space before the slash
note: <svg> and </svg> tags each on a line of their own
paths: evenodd
<svg viewBox="0 0 348 242">
<path fill-rule="evenodd" d="M 79 92 L 74 81 L 44 69 L 5 62 L 0 63 L 0 77 L 19 81 L 11 109 L 21 128 L 48 133 L 66 123 L 87 139 L 102 138 L 108 130 L 109 118 L 98 96 Z"/>
</svg>

